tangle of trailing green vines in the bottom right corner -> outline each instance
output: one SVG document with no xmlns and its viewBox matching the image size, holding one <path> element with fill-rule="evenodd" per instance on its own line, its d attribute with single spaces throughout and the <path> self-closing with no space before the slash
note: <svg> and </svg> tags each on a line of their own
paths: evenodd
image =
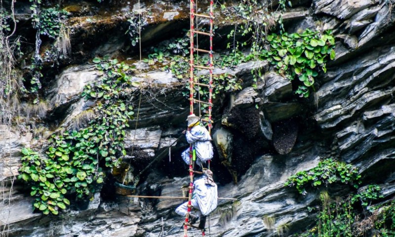
<svg viewBox="0 0 395 237">
<path fill-rule="evenodd" d="M 367 232 L 394 233 L 394 225 L 390 229 L 385 227 L 387 214 L 393 210 L 388 206 L 368 207 L 374 200 L 382 198 L 378 185 L 369 185 L 366 189 L 348 197 L 332 199 L 327 192 L 319 196 L 321 208 L 319 209 L 315 227 L 300 237 L 356 237 L 366 236 Z M 358 213 L 358 209 L 366 208 L 365 219 Z M 395 220 L 394 213 L 392 221 Z M 362 220 L 361 220 L 362 219 Z M 393 223 L 393 222 L 392 222 Z M 374 235 L 371 235 L 374 236 Z M 384 235 L 391 236 L 391 235 Z"/>
</svg>

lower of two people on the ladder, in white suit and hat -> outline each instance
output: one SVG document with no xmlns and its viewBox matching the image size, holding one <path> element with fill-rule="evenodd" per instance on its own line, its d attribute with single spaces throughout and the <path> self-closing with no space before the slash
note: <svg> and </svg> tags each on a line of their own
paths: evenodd
<svg viewBox="0 0 395 237">
<path fill-rule="evenodd" d="M 199 228 L 204 229 L 206 216 L 217 208 L 218 193 L 217 185 L 213 180 L 213 172 L 209 169 L 203 170 L 203 176 L 194 182 L 192 207 L 196 208 L 196 214 L 189 215 L 189 224 L 193 225 L 200 217 Z M 181 204 L 175 210 L 177 214 L 185 216 L 188 212 L 188 201 Z"/>
</svg>

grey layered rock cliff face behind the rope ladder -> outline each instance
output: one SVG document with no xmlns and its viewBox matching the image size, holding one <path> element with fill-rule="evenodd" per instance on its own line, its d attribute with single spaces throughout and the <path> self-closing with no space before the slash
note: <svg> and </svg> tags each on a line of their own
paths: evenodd
<svg viewBox="0 0 395 237">
<path fill-rule="evenodd" d="M 283 15 L 286 30 L 332 29 L 336 58 L 327 64 L 326 74 L 318 76 L 315 91 L 308 99 L 297 98 L 292 83 L 266 61 L 243 62 L 214 71 L 216 75 L 227 73 L 240 79 L 242 89 L 219 94 L 214 100 L 214 179 L 219 184 L 219 197 L 234 197 L 238 201 L 221 200 L 210 214 L 207 226 L 212 236 L 290 236 L 313 227 L 317 209 L 310 208 L 319 205 L 322 189 L 312 189 L 301 196 L 284 183 L 294 173 L 314 168 L 324 158 L 355 166 L 362 188 L 380 185 L 383 197 L 376 202 L 394 197 L 393 2 L 292 3 Z M 173 211 L 182 200 L 116 196 L 111 174 L 88 204 L 74 202 L 56 217 L 33 212 L 30 190 L 14 180 L 23 147 L 44 154 L 53 131 L 80 126 L 76 122 L 79 115 L 92 107 L 80 94 L 85 85 L 100 76 L 91 62 L 95 56 L 111 55 L 134 64 L 137 70 L 133 81 L 143 85 L 137 129 L 134 119 L 125 134 L 128 155 L 134 151 L 133 157 L 127 159 L 135 168 L 134 175 L 181 135 L 189 112 L 188 100 L 182 93 L 186 92 L 188 79 L 162 70 L 160 62 L 139 63 L 138 47 L 132 46 L 125 32 L 128 14 L 133 9 L 144 12 L 141 43 L 146 50 L 143 53 L 149 53 L 153 46 L 183 37 L 182 29 L 189 27 L 189 5 L 184 1 L 148 0 L 141 4 L 139 9 L 136 1 L 62 1 L 61 7 L 71 13 L 65 23 L 70 31 L 71 54 L 58 59 L 53 67 L 43 66 L 40 98 L 46 101 L 46 108 L 42 113 L 29 115 L 27 96 L 22 101 L 22 122 L 12 127 L 0 126 L 0 225 L 6 227 L 4 236 L 156 237 L 162 229 L 169 237 L 183 235 L 183 218 Z M 16 17 L 21 22 L 17 29 L 32 40 L 28 6 L 28 2 L 15 4 Z M 222 12 L 229 14 L 233 9 L 228 2 Z M 221 19 L 214 41 L 220 55 L 226 53 L 226 32 L 238 23 L 226 22 L 220 7 L 215 15 Z M 45 43 L 44 40 L 41 54 Z M 251 69 L 260 70 L 263 75 L 256 89 Z M 138 87 L 130 91 L 129 99 L 136 116 Z M 180 187 L 188 182 L 187 167 L 180 159 L 185 147 L 185 141 L 178 141 L 170 155 L 155 162 L 142 175 L 136 194 L 181 196 Z M 333 196 L 352 192 L 345 185 L 332 184 L 328 188 Z M 268 217 L 273 218 L 273 223 L 268 224 Z"/>
</svg>

